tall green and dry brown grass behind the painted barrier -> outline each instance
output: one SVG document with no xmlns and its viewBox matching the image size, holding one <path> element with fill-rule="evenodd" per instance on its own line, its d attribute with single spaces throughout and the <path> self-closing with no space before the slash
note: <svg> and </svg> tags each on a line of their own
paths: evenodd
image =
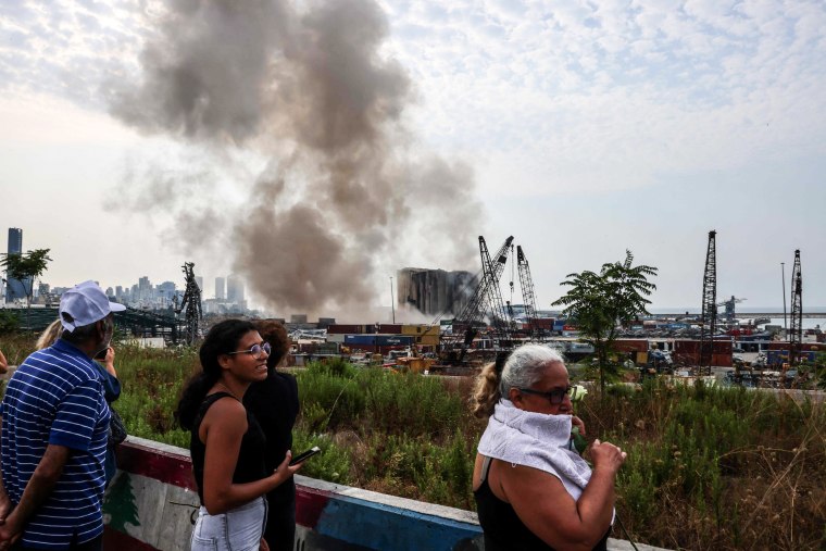
<svg viewBox="0 0 826 551">
<path fill-rule="evenodd" d="M 21 341 L 0 337 L 17 363 Z M 30 348 L 30 345 L 29 345 Z M 10 359 L 11 360 L 11 359 Z M 121 346 L 124 393 L 115 408 L 132 435 L 182 448 L 173 426 L 189 349 Z M 360 370 L 345 362 L 296 371 L 302 415 L 296 451 L 324 450 L 302 474 L 473 509 L 471 474 L 485 424 L 470 414 L 471 379 Z M 588 438 L 622 446 L 617 513 L 636 541 L 668 549 L 823 549 L 826 408 L 740 388 L 592 389 L 577 403 Z M 615 528 L 615 537 L 625 535 Z"/>
</svg>

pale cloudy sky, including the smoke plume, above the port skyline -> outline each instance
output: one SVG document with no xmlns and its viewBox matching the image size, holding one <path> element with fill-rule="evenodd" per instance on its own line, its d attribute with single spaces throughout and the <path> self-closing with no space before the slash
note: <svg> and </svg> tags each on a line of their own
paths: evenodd
<svg viewBox="0 0 826 551">
<path fill-rule="evenodd" d="M 714 229 L 721 300 L 781 308 L 800 249 L 805 311 L 824 90 L 819 0 L 7 0 L 0 227 L 53 286 L 191 261 L 339 318 L 511 235 L 540 309 L 626 250 L 699 308 Z"/>
</svg>

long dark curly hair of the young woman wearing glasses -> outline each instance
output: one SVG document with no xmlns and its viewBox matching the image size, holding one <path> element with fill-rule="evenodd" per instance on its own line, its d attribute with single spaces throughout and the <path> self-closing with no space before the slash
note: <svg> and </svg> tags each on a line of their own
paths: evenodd
<svg viewBox="0 0 826 551">
<path fill-rule="evenodd" d="M 234 352 L 243 336 L 254 330 L 258 330 L 255 326 L 245 320 L 225 320 L 212 326 L 198 351 L 201 371 L 192 375 L 184 386 L 178 409 L 175 410 L 175 421 L 182 428 L 192 429 L 201 402 L 221 378 L 218 356 Z"/>
</svg>

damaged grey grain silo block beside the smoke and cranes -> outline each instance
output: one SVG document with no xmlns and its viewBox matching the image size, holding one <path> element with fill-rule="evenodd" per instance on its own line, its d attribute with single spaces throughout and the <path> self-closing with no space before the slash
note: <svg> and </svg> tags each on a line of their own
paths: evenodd
<svg viewBox="0 0 826 551">
<path fill-rule="evenodd" d="M 423 314 L 456 315 L 474 296 L 478 281 L 470 272 L 405 267 L 397 273 L 397 303 Z"/>
</svg>

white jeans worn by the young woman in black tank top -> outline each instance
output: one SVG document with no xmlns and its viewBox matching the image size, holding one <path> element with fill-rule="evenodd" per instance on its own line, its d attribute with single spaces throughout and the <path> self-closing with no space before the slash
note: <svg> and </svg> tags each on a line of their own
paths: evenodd
<svg viewBox="0 0 826 551">
<path fill-rule="evenodd" d="M 263 497 L 220 515 L 211 515 L 202 506 L 192 528 L 191 550 L 258 550 L 266 524 L 266 498 Z"/>
</svg>

